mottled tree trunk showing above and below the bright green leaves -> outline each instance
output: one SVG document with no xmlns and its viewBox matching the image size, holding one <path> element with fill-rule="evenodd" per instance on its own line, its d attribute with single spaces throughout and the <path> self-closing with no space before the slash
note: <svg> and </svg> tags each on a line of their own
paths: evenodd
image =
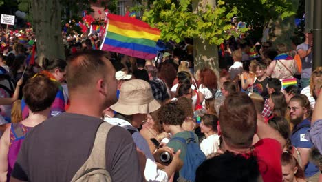
<svg viewBox="0 0 322 182">
<path fill-rule="evenodd" d="M 215 0 L 202 0 L 211 4 L 211 6 L 216 6 Z M 193 1 L 193 10 L 197 10 L 199 1 Z M 214 70 L 217 77 L 219 77 L 219 63 L 218 63 L 218 51 L 217 45 L 210 45 L 208 41 L 201 39 L 200 37 L 193 38 L 193 55 L 195 57 L 195 77 L 199 79 L 200 69 L 206 67 Z M 219 79 L 218 79 L 219 80 Z"/>
</svg>

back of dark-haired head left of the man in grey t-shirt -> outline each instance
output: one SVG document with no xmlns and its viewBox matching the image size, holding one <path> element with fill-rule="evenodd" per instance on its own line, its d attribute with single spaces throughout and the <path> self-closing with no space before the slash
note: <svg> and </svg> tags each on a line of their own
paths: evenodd
<svg viewBox="0 0 322 182">
<path fill-rule="evenodd" d="M 58 92 L 58 85 L 45 75 L 29 79 L 23 87 L 23 98 L 31 112 L 40 112 L 50 108 Z"/>
</svg>

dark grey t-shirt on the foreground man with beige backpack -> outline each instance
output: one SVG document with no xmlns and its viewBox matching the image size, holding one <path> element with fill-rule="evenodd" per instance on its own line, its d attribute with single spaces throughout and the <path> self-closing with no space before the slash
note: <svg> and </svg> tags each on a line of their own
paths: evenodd
<svg viewBox="0 0 322 182">
<path fill-rule="evenodd" d="M 71 181 L 87 161 L 103 121 L 63 113 L 32 129 L 23 141 L 12 176 L 22 181 Z M 118 126 L 109 131 L 106 169 L 113 181 L 142 181 L 131 134 Z"/>
</svg>

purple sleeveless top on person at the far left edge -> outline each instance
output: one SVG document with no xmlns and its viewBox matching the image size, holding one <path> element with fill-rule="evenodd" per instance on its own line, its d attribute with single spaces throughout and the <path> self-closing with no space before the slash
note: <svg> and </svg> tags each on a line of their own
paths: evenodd
<svg viewBox="0 0 322 182">
<path fill-rule="evenodd" d="M 10 180 L 11 172 L 14 168 L 14 163 L 17 160 L 17 156 L 21 145 L 23 143 L 23 139 L 28 134 L 28 132 L 32 129 L 32 127 L 25 126 L 21 123 L 11 123 L 10 128 L 10 143 L 8 150 L 8 173 L 7 173 L 7 181 Z"/>
</svg>

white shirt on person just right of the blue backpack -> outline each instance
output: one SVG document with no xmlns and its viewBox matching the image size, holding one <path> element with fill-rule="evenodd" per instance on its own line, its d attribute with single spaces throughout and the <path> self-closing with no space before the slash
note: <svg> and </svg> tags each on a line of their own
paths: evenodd
<svg viewBox="0 0 322 182">
<path fill-rule="evenodd" d="M 208 154 L 217 152 L 219 149 L 219 135 L 213 134 L 208 136 L 200 143 L 200 149 L 206 156 L 208 156 Z"/>
</svg>

